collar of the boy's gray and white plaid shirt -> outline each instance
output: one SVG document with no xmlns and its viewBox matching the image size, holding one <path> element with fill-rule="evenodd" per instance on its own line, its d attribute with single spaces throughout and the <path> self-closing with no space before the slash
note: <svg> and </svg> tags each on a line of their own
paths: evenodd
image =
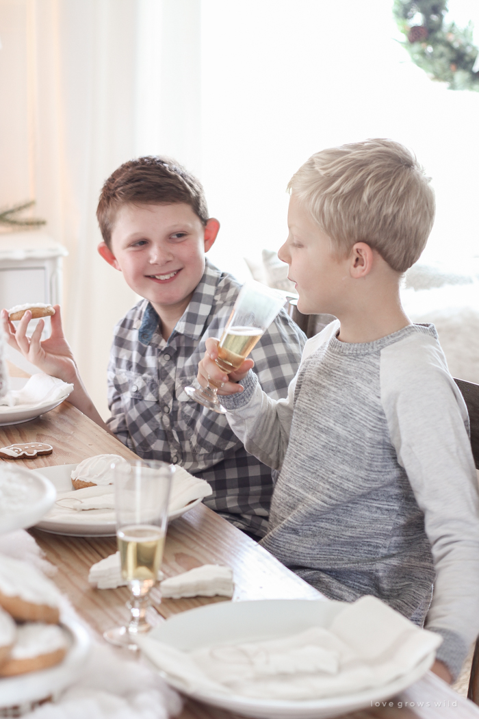
<svg viewBox="0 0 479 719">
<path fill-rule="evenodd" d="M 177 321 L 172 334 L 185 334 L 192 339 L 200 339 L 203 335 L 205 323 L 210 316 L 215 299 L 216 288 L 220 280 L 220 270 L 205 261 L 205 271 L 185 312 Z M 138 339 L 141 344 L 150 344 L 155 331 L 159 326 L 159 316 L 147 300 L 144 301 L 143 317 L 138 330 Z"/>
</svg>

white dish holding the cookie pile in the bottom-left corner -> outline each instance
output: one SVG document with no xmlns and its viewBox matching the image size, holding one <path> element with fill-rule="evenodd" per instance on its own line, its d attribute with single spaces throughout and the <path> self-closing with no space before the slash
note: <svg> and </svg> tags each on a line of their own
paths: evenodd
<svg viewBox="0 0 479 719">
<path fill-rule="evenodd" d="M 45 699 L 66 689 L 78 679 L 78 673 L 90 652 L 90 636 L 80 622 L 62 618 L 62 628 L 68 633 L 70 648 L 60 664 L 41 672 L 19 674 L 0 679 L 0 708 L 22 705 Z"/>
</svg>

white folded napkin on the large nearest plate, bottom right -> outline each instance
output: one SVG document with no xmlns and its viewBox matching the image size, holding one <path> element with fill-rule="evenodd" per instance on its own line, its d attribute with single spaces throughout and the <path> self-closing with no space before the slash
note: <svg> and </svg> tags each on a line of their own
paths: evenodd
<svg viewBox="0 0 479 719">
<path fill-rule="evenodd" d="M 392 682 L 417 667 L 441 641 L 368 596 L 345 604 L 328 628 L 312 626 L 279 639 L 191 652 L 147 636 L 139 644 L 187 692 L 208 687 L 259 699 L 315 700 Z"/>
</svg>

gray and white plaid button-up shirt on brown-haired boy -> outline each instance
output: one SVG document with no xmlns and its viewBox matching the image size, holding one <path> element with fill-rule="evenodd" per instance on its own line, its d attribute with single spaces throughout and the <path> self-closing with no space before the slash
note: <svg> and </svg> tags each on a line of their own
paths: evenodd
<svg viewBox="0 0 479 719">
<path fill-rule="evenodd" d="M 197 385 L 205 339 L 220 337 L 240 283 L 206 262 L 192 300 L 168 339 L 157 313 L 142 300 L 115 328 L 108 365 L 108 425 L 144 459 L 181 464 L 210 482 L 205 504 L 236 526 L 264 536 L 272 493 L 271 470 L 243 448 L 225 416 L 185 394 Z M 305 336 L 281 311 L 251 357 L 271 398 L 287 396 Z"/>
</svg>

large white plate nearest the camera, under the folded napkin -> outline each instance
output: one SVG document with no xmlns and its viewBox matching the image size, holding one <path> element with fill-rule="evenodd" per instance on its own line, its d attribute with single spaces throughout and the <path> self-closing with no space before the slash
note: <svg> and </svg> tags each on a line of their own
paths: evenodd
<svg viewBox="0 0 479 719">
<path fill-rule="evenodd" d="M 343 602 L 314 600 L 263 600 L 258 602 L 221 602 L 173 615 L 149 634 L 152 638 L 192 651 L 212 644 L 261 641 L 299 633 L 311 626 L 330 626 L 332 618 L 344 608 Z M 195 692 L 197 700 L 222 707 L 233 713 L 257 719 L 330 719 L 371 707 L 417 682 L 432 666 L 434 652 L 411 672 L 382 687 L 315 701 L 257 700 L 238 695 Z M 159 674 L 173 687 L 185 693 L 175 679 Z"/>
</svg>

